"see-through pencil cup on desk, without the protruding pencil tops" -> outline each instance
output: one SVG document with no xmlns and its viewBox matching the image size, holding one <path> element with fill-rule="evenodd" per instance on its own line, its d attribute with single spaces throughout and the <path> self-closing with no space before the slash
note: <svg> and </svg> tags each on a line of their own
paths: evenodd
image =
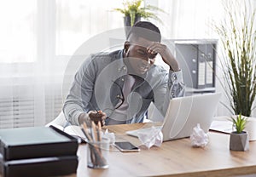
<svg viewBox="0 0 256 177">
<path fill-rule="evenodd" d="M 87 167 L 108 168 L 109 140 L 88 141 Z"/>
</svg>

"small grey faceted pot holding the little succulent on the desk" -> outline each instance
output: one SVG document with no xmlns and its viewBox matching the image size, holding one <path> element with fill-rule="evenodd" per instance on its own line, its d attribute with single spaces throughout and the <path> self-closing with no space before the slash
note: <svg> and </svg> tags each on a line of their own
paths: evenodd
<svg viewBox="0 0 256 177">
<path fill-rule="evenodd" d="M 238 134 L 232 132 L 230 134 L 230 150 L 232 151 L 247 151 L 249 149 L 249 138 L 247 132 Z"/>
</svg>

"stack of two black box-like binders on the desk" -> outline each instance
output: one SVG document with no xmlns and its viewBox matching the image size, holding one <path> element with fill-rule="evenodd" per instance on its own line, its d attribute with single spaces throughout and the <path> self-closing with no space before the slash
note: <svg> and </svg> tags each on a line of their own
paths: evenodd
<svg viewBox="0 0 256 177">
<path fill-rule="evenodd" d="M 78 141 L 55 128 L 0 129 L 0 174 L 13 176 L 56 176 L 75 174 Z"/>
</svg>

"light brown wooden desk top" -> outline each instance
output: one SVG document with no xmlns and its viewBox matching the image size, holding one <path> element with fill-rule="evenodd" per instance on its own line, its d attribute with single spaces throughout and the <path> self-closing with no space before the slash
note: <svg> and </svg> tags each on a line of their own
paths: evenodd
<svg viewBox="0 0 256 177">
<path fill-rule="evenodd" d="M 137 138 L 125 135 L 125 131 L 141 128 L 143 123 L 108 126 L 117 133 L 117 139 L 131 140 L 140 145 Z M 87 168 L 86 145 L 79 146 L 77 176 L 229 176 L 256 174 L 256 141 L 250 142 L 249 151 L 230 151 L 229 134 L 209 132 L 205 148 L 190 146 L 189 138 L 164 142 L 160 147 L 140 152 L 109 152 L 108 169 Z M 76 176 L 76 175 L 72 175 Z"/>
</svg>

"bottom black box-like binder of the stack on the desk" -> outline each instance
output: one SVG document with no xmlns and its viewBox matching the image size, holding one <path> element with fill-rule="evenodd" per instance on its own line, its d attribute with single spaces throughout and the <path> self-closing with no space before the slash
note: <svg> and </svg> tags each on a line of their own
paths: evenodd
<svg viewBox="0 0 256 177">
<path fill-rule="evenodd" d="M 78 163 L 77 156 L 0 160 L 0 174 L 3 177 L 46 177 L 75 174 Z"/>
</svg>

